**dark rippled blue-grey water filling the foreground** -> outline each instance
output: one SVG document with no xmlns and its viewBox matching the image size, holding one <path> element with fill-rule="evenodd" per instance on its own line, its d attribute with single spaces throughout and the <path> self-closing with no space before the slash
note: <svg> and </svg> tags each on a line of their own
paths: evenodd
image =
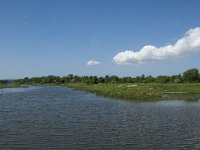
<svg viewBox="0 0 200 150">
<path fill-rule="evenodd" d="M 200 149 L 200 102 L 126 102 L 64 87 L 3 89 L 0 149 Z"/>
</svg>

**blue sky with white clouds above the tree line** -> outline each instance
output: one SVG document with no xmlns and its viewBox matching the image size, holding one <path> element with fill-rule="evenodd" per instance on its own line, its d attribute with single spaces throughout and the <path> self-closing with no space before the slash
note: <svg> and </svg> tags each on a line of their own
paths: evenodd
<svg viewBox="0 0 200 150">
<path fill-rule="evenodd" d="M 0 79 L 200 69 L 199 0 L 0 0 Z"/>
</svg>

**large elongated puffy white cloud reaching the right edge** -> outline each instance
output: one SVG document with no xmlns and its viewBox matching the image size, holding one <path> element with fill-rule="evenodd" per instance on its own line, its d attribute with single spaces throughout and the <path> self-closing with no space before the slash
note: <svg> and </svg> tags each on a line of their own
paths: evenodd
<svg viewBox="0 0 200 150">
<path fill-rule="evenodd" d="M 144 46 L 139 51 L 126 50 L 113 57 L 116 64 L 138 64 L 172 59 L 187 54 L 200 52 L 200 27 L 188 30 L 173 45 L 155 47 Z"/>
</svg>

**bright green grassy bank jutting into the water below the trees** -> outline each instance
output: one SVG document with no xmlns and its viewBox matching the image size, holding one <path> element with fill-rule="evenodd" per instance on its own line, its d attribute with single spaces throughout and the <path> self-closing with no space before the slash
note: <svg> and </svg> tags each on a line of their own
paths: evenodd
<svg viewBox="0 0 200 150">
<path fill-rule="evenodd" d="M 67 84 L 99 96 L 129 100 L 200 99 L 200 84 Z"/>
</svg>

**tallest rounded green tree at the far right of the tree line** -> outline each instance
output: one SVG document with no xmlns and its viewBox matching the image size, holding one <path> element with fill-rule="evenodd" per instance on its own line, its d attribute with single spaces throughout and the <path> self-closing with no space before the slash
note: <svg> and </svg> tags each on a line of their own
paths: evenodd
<svg viewBox="0 0 200 150">
<path fill-rule="evenodd" d="M 186 82 L 197 82 L 199 80 L 199 71 L 196 68 L 186 70 L 183 73 L 183 79 Z"/>
</svg>

